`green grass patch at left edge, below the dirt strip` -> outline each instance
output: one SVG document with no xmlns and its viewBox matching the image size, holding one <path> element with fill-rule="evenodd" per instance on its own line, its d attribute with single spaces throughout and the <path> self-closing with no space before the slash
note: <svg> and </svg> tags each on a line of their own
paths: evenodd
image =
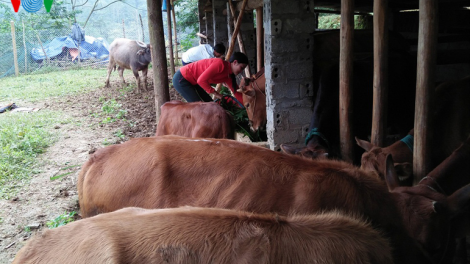
<svg viewBox="0 0 470 264">
<path fill-rule="evenodd" d="M 0 198 L 9 198 L 38 172 L 36 157 L 57 141 L 59 119 L 60 113 L 48 110 L 0 116 Z"/>
</svg>

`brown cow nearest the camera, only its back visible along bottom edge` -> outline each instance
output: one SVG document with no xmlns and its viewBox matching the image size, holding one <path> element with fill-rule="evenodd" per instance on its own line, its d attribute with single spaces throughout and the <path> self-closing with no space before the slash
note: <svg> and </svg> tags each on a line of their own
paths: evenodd
<svg viewBox="0 0 470 264">
<path fill-rule="evenodd" d="M 392 264 L 388 241 L 339 212 L 283 217 L 215 208 L 125 208 L 46 231 L 14 264 Z"/>
</svg>

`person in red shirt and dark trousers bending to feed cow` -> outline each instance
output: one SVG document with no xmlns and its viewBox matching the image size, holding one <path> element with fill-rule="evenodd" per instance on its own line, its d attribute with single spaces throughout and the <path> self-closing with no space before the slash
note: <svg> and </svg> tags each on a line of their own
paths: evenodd
<svg viewBox="0 0 470 264">
<path fill-rule="evenodd" d="M 248 65 L 248 57 L 241 52 L 234 52 L 229 61 L 219 58 L 204 59 L 185 65 L 173 76 L 173 86 L 187 102 L 212 102 L 222 99 L 222 95 L 211 84 L 225 83 L 235 98 L 243 105 L 242 94 L 237 92 L 235 76 Z"/>
</svg>

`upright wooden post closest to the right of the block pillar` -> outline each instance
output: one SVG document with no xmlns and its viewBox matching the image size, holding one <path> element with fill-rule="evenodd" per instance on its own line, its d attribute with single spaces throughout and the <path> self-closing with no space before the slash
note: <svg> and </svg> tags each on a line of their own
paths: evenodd
<svg viewBox="0 0 470 264">
<path fill-rule="evenodd" d="M 352 138 L 352 72 L 353 72 L 353 34 L 354 0 L 341 0 L 341 28 L 339 52 L 339 125 L 340 147 L 343 160 L 353 161 Z"/>
</svg>

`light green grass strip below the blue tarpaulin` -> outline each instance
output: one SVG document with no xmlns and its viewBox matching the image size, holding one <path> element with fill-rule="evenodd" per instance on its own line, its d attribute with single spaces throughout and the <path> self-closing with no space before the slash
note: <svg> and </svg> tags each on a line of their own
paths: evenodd
<svg viewBox="0 0 470 264">
<path fill-rule="evenodd" d="M 104 86 L 106 69 L 78 69 L 0 79 L 0 101 L 37 102 Z"/>
</svg>

